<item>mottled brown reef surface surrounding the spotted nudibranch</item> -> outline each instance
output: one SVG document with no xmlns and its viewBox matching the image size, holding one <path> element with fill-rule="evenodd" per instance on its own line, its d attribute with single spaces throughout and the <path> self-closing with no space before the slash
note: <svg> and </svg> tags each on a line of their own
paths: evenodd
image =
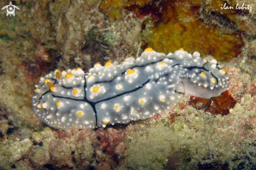
<svg viewBox="0 0 256 170">
<path fill-rule="evenodd" d="M 256 169 L 255 1 L 12 5 L 15 16 L 0 10 L 0 169 Z M 41 76 L 120 64 L 149 47 L 217 59 L 228 90 L 185 95 L 165 114 L 106 128 L 58 130 L 32 110 Z"/>
</svg>

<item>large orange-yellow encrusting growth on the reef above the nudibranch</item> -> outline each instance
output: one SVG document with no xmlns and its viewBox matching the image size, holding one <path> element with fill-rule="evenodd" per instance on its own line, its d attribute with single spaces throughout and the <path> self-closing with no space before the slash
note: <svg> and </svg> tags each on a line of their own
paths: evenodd
<svg viewBox="0 0 256 170">
<path fill-rule="evenodd" d="M 115 4 L 118 5 L 115 7 L 109 5 L 113 3 L 102 1 L 100 6 L 101 11 L 110 18 L 119 19 L 121 15 L 115 13 L 119 13 L 121 9 L 129 9 L 138 18 L 150 15 L 156 20 L 154 27 L 150 22 L 145 22 L 152 31 L 147 47 L 160 52 L 169 53 L 174 52 L 175 49 L 184 48 L 188 52 L 199 51 L 203 56 L 213 55 L 219 61 L 229 61 L 237 57 L 241 53 L 241 47 L 244 46 L 241 33 L 233 28 L 236 22 L 228 18 L 233 18 L 234 14 L 225 17 L 226 13 L 218 12 L 217 9 L 220 7 L 214 8 L 216 4 L 222 4 L 220 1 L 213 2 L 213 7 L 210 3 L 202 2 L 201 4 L 200 1 L 186 1 L 186 5 L 183 1 L 129 1 L 126 3 L 117 1 Z M 218 17 L 219 15 L 222 16 Z M 219 20 L 222 22 L 219 23 Z M 222 29 L 219 29 L 220 27 Z M 231 31 L 227 32 L 226 29 Z"/>
</svg>

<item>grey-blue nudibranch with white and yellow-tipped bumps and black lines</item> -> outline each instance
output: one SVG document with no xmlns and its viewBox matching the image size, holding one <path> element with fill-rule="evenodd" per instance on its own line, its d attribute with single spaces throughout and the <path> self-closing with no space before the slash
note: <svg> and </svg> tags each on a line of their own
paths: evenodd
<svg viewBox="0 0 256 170">
<path fill-rule="evenodd" d="M 37 117 L 57 129 L 105 127 L 152 118 L 170 111 L 184 93 L 219 96 L 228 77 L 215 59 L 182 48 L 165 55 L 147 48 L 120 65 L 96 63 L 82 69 L 55 70 L 41 77 L 32 105 Z"/>
</svg>

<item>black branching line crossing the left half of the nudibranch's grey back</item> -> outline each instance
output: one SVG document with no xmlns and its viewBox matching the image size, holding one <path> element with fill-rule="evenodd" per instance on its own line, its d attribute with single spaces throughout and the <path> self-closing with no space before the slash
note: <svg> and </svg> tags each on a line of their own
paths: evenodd
<svg viewBox="0 0 256 170">
<path fill-rule="evenodd" d="M 139 87 L 133 89 L 133 90 L 130 90 L 128 92 L 124 92 L 124 93 L 121 93 L 119 95 L 116 95 L 116 96 L 113 96 L 113 97 L 109 97 L 109 98 L 106 98 L 106 99 L 103 99 L 103 100 L 99 100 L 99 101 L 96 101 L 96 102 L 93 102 L 93 101 L 90 101 L 87 99 L 86 97 L 86 92 L 85 92 L 85 96 L 84 96 L 84 99 L 74 99 L 74 98 L 70 98 L 70 97 L 62 97 L 62 96 L 55 96 L 52 94 L 53 97 L 57 97 L 57 98 L 65 98 L 65 99 L 70 99 L 70 100 L 75 100 L 75 101 L 85 101 L 87 102 L 88 104 L 90 104 L 93 108 L 93 111 L 95 113 L 95 120 L 96 120 L 96 123 L 95 123 L 95 126 L 97 127 L 98 126 L 98 118 L 97 118 L 97 111 L 96 111 L 96 108 L 95 108 L 95 105 L 98 104 L 98 103 L 101 103 L 102 101 L 106 101 L 106 100 L 110 100 L 110 99 L 113 99 L 113 98 L 116 98 L 116 97 L 119 97 L 119 96 L 122 96 L 122 95 L 125 95 L 125 94 L 128 94 L 128 93 L 132 93 L 132 92 L 135 92 L 136 90 L 142 88 L 144 85 L 146 85 L 147 83 L 149 83 L 150 80 L 148 80 L 147 82 L 144 82 L 142 85 L 140 85 Z M 84 85 L 84 89 L 86 88 L 86 82 L 85 82 L 85 85 Z"/>
</svg>

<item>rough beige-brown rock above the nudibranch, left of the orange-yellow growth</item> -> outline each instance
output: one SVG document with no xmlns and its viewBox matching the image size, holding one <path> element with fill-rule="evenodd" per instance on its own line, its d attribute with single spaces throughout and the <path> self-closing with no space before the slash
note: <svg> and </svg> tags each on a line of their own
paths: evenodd
<svg viewBox="0 0 256 170">
<path fill-rule="evenodd" d="M 142 21 L 132 15 L 124 21 L 106 20 L 97 8 L 98 1 L 92 2 L 49 4 L 52 16 L 59 18 L 56 40 L 62 53 L 58 63 L 62 69 L 79 66 L 86 71 L 97 62 L 120 62 L 138 55 Z"/>
</svg>

